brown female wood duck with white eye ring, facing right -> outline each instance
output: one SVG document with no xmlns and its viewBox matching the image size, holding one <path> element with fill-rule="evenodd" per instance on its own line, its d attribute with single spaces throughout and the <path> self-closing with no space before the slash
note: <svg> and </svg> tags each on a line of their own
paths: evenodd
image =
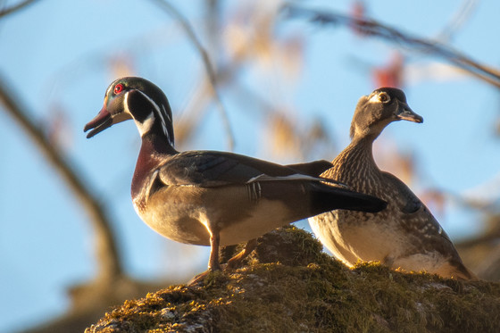
<svg viewBox="0 0 500 333">
<path fill-rule="evenodd" d="M 373 141 L 389 123 L 401 120 L 423 121 L 408 106 L 403 91 L 382 87 L 361 97 L 351 124 L 351 144 L 321 177 L 377 196 L 387 201 L 387 209 L 376 213 L 326 212 L 309 219 L 312 230 L 348 266 L 379 261 L 393 269 L 475 279 L 425 204 L 403 181 L 380 171 L 373 159 Z"/>
</svg>

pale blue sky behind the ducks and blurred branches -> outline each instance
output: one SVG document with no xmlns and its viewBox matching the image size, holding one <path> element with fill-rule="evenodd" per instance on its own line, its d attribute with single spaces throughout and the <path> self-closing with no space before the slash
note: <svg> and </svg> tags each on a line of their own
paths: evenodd
<svg viewBox="0 0 500 333">
<path fill-rule="evenodd" d="M 12 4 L 12 1 L 6 2 Z M 251 3 L 251 2 L 250 2 Z M 263 5 L 265 0 L 260 3 Z M 205 44 L 202 1 L 172 1 Z M 224 3 L 225 14 L 237 2 Z M 301 2 L 312 7 L 349 12 L 350 1 Z M 451 21 L 455 1 L 380 1 L 369 14 L 421 37 L 436 37 Z M 451 44 L 479 62 L 498 66 L 497 13 L 500 3 L 477 1 Z M 395 46 L 378 39 L 356 37 L 345 28 L 318 28 L 300 21 L 279 21 L 278 38 L 300 37 L 303 57 L 293 80 L 271 64 L 255 61 L 237 79 L 290 110 L 289 117 L 308 125 L 321 119 L 335 138 L 336 149 L 348 143 L 354 106 L 375 88 L 364 64 L 382 66 Z M 377 145 L 396 146 L 417 161 L 415 191 L 438 187 L 454 195 L 498 198 L 500 154 L 494 124 L 500 111 L 495 88 L 456 71 L 443 69 L 440 59 L 408 55 L 404 90 L 423 124 L 398 122 L 389 126 Z M 110 63 L 132 59 L 138 76 L 154 81 L 169 97 L 174 121 L 187 107 L 204 67 L 179 25 L 149 2 L 131 0 L 42 0 L 0 21 L 0 72 L 12 82 L 37 121 L 54 123 L 63 110 L 68 159 L 81 177 L 104 198 L 129 274 L 140 279 L 171 276 L 180 279 L 203 271 L 208 248 L 183 246 L 148 229 L 134 212 L 129 185 L 139 139 L 129 121 L 87 140 L 83 126 L 100 110 L 104 91 L 116 79 Z M 355 61 L 353 61 L 353 59 Z M 436 66 L 437 67 L 432 67 Z M 235 132 L 235 152 L 276 162 L 263 148 L 266 116 L 242 105 L 230 88 L 221 90 Z M 0 111 L 3 111 L 0 109 Z M 59 115 L 60 116 L 60 115 Z M 211 106 L 203 126 L 187 149 L 227 150 L 221 117 Z M 0 331 L 20 329 L 61 314 L 68 306 L 65 288 L 92 279 L 96 272 L 92 229 L 87 216 L 63 181 L 46 163 L 5 112 L 0 112 Z M 319 154 L 319 153 L 318 153 Z M 333 159 L 317 155 L 314 158 Z M 490 184 L 489 187 L 483 187 Z M 447 202 L 438 220 L 454 238 L 480 230 L 481 215 Z M 300 226 L 308 228 L 304 222 Z M 180 255 L 182 254 L 182 255 Z M 27 301 L 29 300 L 29 301 Z M 9 304 L 7 307 L 6 304 Z"/>
</svg>

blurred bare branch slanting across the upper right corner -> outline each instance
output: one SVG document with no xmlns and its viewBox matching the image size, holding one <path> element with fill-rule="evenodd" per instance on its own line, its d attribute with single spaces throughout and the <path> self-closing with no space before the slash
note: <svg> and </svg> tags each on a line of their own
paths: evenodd
<svg viewBox="0 0 500 333">
<path fill-rule="evenodd" d="M 471 57 L 454 50 L 451 46 L 420 37 L 412 37 L 398 29 L 371 19 L 354 18 L 337 12 L 312 10 L 293 4 L 287 4 L 283 9 L 287 16 L 291 18 L 302 17 L 321 24 L 329 23 L 354 27 L 367 36 L 381 37 L 387 41 L 410 47 L 422 54 L 438 55 L 463 71 L 467 71 L 471 75 L 500 88 L 500 71 L 472 60 Z"/>
</svg>

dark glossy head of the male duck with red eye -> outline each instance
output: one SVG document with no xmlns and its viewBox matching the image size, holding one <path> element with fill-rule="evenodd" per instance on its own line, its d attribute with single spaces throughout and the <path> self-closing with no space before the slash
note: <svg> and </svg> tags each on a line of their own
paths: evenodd
<svg viewBox="0 0 500 333">
<path fill-rule="evenodd" d="M 162 89 L 142 78 L 116 79 L 107 88 L 104 105 L 92 121 L 83 129 L 90 129 L 87 137 L 121 121 L 134 120 L 141 137 L 157 134 L 167 137 L 173 146 L 171 106 Z"/>
</svg>

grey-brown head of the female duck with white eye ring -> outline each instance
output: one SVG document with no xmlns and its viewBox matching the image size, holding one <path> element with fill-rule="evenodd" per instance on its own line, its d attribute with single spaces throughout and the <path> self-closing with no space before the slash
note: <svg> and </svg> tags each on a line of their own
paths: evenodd
<svg viewBox="0 0 500 333">
<path fill-rule="evenodd" d="M 423 122 L 406 103 L 404 92 L 396 87 L 380 87 L 362 96 L 356 105 L 350 135 L 376 138 L 392 121 Z"/>
</svg>

